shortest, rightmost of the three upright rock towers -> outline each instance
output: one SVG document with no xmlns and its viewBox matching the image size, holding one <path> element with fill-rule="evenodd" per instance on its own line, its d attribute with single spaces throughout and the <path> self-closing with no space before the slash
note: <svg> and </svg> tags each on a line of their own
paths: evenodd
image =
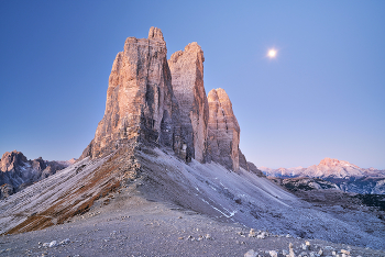
<svg viewBox="0 0 385 257">
<path fill-rule="evenodd" d="M 221 88 L 212 89 L 208 94 L 209 125 L 208 153 L 209 160 L 238 171 L 240 126 L 232 111 L 229 96 Z"/>
</svg>

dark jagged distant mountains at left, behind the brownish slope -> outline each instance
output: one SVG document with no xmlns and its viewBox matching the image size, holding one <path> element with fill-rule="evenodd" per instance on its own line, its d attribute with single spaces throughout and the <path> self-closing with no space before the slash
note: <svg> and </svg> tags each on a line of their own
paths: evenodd
<svg viewBox="0 0 385 257">
<path fill-rule="evenodd" d="M 75 161 L 76 159 L 48 161 L 42 157 L 29 160 L 21 152 L 6 152 L 0 159 L 0 199 L 47 178 Z"/>
</svg>

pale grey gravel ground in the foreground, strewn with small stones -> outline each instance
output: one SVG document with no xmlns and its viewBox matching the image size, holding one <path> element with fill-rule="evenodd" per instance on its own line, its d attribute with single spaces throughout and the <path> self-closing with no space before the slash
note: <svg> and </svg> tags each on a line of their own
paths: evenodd
<svg viewBox="0 0 385 257">
<path fill-rule="evenodd" d="M 304 250 L 306 239 L 286 235 L 249 237 L 249 227 L 148 201 L 130 189 L 111 194 L 110 199 L 108 205 L 100 200 L 88 213 L 69 223 L 0 236 L 0 256 L 244 256 L 250 249 L 271 256 L 270 250 L 288 253 L 289 243 L 296 256 L 301 253 L 310 256 L 321 248 L 324 256 L 331 256 L 332 250 L 341 256 L 341 249 L 349 250 L 351 256 L 385 256 L 381 250 L 318 239 L 309 239 L 310 249 Z M 66 238 L 69 241 L 65 242 Z M 44 246 L 53 241 L 56 246 Z"/>
</svg>

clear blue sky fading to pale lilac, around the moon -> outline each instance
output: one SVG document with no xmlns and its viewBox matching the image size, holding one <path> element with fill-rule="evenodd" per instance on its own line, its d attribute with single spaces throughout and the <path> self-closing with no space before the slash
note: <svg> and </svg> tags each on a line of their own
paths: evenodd
<svg viewBox="0 0 385 257">
<path fill-rule="evenodd" d="M 256 166 L 330 157 L 385 169 L 381 0 L 0 0 L 0 154 L 79 157 L 103 116 L 117 53 L 151 26 L 168 57 L 202 47 L 206 92 L 228 92 Z"/>
</svg>

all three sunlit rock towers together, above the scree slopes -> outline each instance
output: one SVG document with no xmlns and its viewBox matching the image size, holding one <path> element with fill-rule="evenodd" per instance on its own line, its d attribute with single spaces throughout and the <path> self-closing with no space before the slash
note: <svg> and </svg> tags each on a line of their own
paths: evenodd
<svg viewBox="0 0 385 257">
<path fill-rule="evenodd" d="M 106 111 L 81 158 L 109 154 L 129 142 L 172 147 L 186 161 L 216 161 L 248 168 L 239 152 L 240 126 L 223 89 L 206 97 L 204 52 L 194 42 L 167 62 L 162 31 L 129 37 L 109 78 Z"/>
</svg>

